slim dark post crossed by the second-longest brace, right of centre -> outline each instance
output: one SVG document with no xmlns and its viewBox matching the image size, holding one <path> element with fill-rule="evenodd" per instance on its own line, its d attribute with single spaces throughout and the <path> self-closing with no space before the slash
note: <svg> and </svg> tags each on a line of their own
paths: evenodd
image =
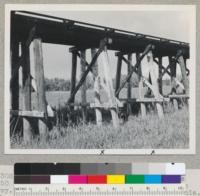
<svg viewBox="0 0 200 196">
<path fill-rule="evenodd" d="M 127 74 L 131 72 L 131 63 L 132 63 L 132 54 L 128 54 L 128 67 L 127 67 Z M 131 78 L 128 79 L 127 81 L 127 113 L 130 114 L 132 113 L 131 111 Z"/>
</svg>

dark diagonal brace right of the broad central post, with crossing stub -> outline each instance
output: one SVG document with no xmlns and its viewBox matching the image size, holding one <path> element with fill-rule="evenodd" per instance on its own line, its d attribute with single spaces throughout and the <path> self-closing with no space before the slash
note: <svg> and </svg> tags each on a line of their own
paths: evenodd
<svg viewBox="0 0 200 196">
<path fill-rule="evenodd" d="M 127 75 L 125 81 L 122 83 L 122 85 L 118 88 L 118 90 L 116 91 L 115 95 L 118 96 L 120 91 L 122 90 L 122 88 L 124 88 L 125 84 L 127 83 L 127 81 L 131 78 L 133 72 L 137 73 L 137 68 L 140 66 L 140 63 L 142 61 L 142 59 L 145 57 L 145 55 L 150 51 L 153 50 L 155 47 L 152 44 L 149 44 L 144 52 L 142 53 L 142 55 L 139 57 L 138 61 L 135 63 L 135 65 L 133 66 L 132 63 L 130 63 L 128 60 L 126 60 L 124 57 L 122 57 L 122 59 L 126 62 L 129 63 L 131 65 L 131 70 L 130 73 Z"/>
</svg>

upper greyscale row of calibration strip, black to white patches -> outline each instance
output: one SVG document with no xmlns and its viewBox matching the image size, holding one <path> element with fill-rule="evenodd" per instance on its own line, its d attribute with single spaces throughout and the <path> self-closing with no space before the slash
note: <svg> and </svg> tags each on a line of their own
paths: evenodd
<svg viewBox="0 0 200 196">
<path fill-rule="evenodd" d="M 15 175 L 185 175 L 184 163 L 16 163 Z"/>
</svg>

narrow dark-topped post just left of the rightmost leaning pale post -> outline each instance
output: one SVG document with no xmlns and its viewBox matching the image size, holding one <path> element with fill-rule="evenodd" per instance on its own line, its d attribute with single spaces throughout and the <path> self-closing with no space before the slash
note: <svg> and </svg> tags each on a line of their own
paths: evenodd
<svg viewBox="0 0 200 196">
<path fill-rule="evenodd" d="M 171 56 L 169 56 L 169 64 L 170 64 L 170 74 L 171 74 L 171 94 L 176 94 L 176 68 L 177 64 L 176 62 L 172 59 Z M 173 107 L 175 110 L 178 110 L 178 101 L 176 98 L 172 99 Z"/>
</svg>

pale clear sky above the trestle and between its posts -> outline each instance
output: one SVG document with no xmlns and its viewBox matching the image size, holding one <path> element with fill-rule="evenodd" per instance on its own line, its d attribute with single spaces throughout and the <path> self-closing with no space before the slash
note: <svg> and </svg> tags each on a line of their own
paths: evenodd
<svg viewBox="0 0 200 196">
<path fill-rule="evenodd" d="M 40 12 L 47 15 L 59 16 L 123 30 L 160 36 L 183 42 L 190 41 L 190 13 L 186 11 L 51 11 Z M 43 44 L 44 71 L 47 78 L 69 79 L 71 75 L 70 46 Z M 90 51 L 86 51 L 87 61 L 90 62 Z M 114 52 L 109 52 L 112 66 L 112 77 L 116 74 L 117 59 Z M 133 64 L 135 57 L 133 56 Z M 78 61 L 78 64 L 80 62 Z M 164 58 L 164 65 L 168 59 Z M 100 70 L 101 71 L 101 70 Z M 123 64 L 122 74 L 127 73 L 127 66 Z M 78 78 L 80 66 L 78 66 Z"/>
</svg>

